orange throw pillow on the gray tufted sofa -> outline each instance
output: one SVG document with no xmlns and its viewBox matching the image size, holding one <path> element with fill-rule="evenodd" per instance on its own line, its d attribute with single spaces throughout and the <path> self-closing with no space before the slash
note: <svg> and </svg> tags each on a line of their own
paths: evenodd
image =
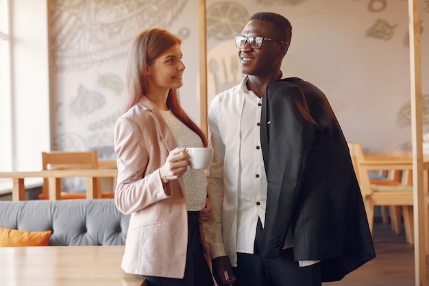
<svg viewBox="0 0 429 286">
<path fill-rule="evenodd" d="M 48 246 L 51 233 L 0 227 L 0 246 Z"/>
</svg>

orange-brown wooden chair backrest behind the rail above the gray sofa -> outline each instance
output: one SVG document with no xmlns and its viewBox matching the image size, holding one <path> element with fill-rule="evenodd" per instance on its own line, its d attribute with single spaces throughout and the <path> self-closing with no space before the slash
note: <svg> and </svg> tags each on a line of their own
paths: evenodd
<svg viewBox="0 0 429 286">
<path fill-rule="evenodd" d="M 67 152 L 42 152 L 42 167 L 44 170 L 60 169 L 98 169 L 97 150 Z M 57 189 L 62 189 L 61 179 L 56 180 Z M 49 184 L 45 178 L 42 186 L 42 198 L 49 198 Z M 94 191 L 99 191 L 99 178 L 94 178 Z"/>
</svg>

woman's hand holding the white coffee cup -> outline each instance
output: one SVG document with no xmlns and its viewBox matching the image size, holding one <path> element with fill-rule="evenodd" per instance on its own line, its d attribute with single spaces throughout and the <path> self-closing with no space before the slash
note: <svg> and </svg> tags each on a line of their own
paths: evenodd
<svg viewBox="0 0 429 286">
<path fill-rule="evenodd" d="M 183 176 L 189 165 L 187 160 L 188 154 L 184 147 L 177 147 L 169 153 L 165 164 L 160 167 L 160 176 L 162 182 L 167 183 L 169 180 L 176 180 Z"/>
</svg>

